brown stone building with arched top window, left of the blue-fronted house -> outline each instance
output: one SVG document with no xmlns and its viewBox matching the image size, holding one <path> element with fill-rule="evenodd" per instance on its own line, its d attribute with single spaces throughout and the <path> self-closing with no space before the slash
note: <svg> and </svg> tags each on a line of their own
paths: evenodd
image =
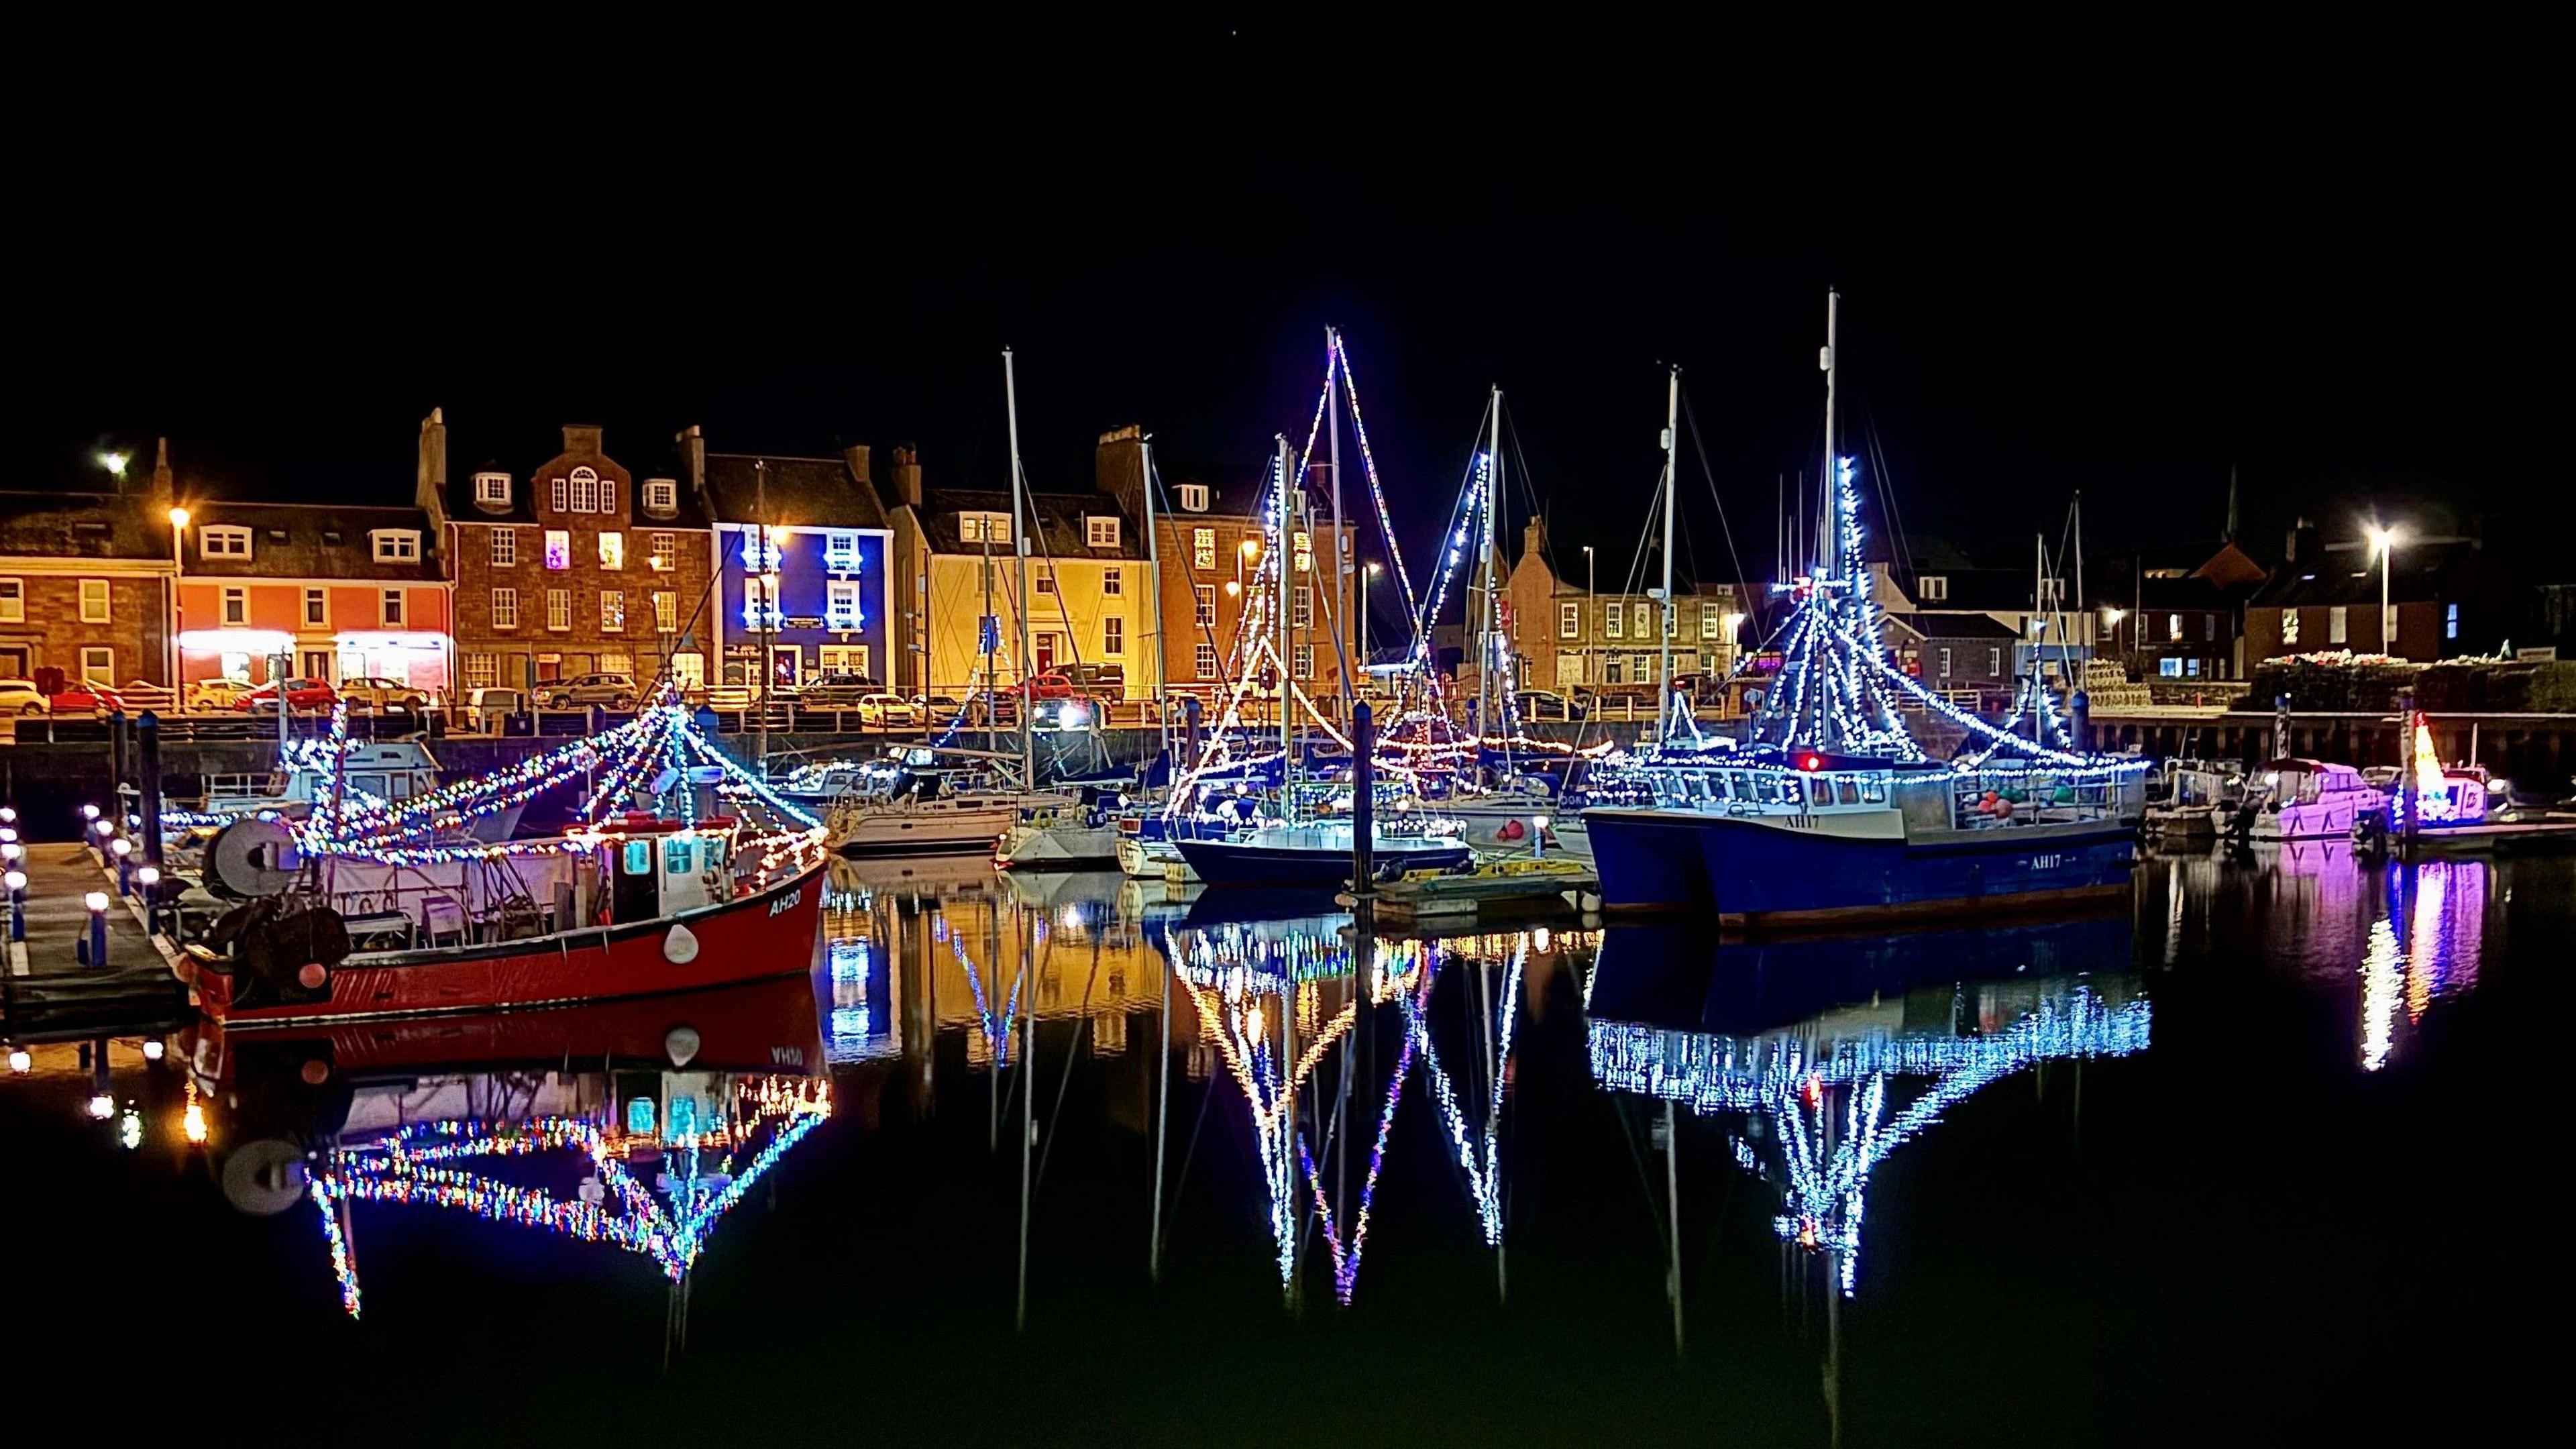
<svg viewBox="0 0 2576 1449">
<path fill-rule="evenodd" d="M 670 668 L 706 683 L 714 536 L 677 477 L 636 480 L 600 451 L 600 428 L 567 425 L 564 451 L 526 480 L 502 467 L 448 477 L 440 413 L 420 425 L 420 508 L 456 590 L 459 688 L 533 688 L 626 673 L 639 688 Z"/>
</svg>

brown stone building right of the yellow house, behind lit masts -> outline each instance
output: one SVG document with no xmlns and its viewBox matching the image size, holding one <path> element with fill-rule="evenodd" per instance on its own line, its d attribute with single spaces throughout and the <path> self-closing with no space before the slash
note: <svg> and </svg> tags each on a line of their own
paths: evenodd
<svg viewBox="0 0 2576 1449">
<path fill-rule="evenodd" d="M 1092 456 L 1092 477 L 1100 492 L 1118 500 L 1118 508 L 1144 526 L 1144 433 L 1118 428 L 1100 436 Z M 1262 477 L 1242 485 L 1211 485 L 1203 472 L 1157 464 L 1154 472 L 1170 482 L 1154 498 L 1154 544 L 1162 552 L 1159 608 L 1170 621 L 1162 657 L 1164 681 L 1175 694 L 1213 696 L 1226 681 L 1226 657 L 1244 624 L 1244 601 L 1257 575 L 1278 565 L 1260 552 Z M 1340 588 L 1332 575 L 1332 503 L 1327 464 L 1306 469 L 1306 518 L 1293 531 L 1296 565 L 1291 606 L 1291 652 L 1296 676 L 1319 704 L 1342 691 L 1342 657 L 1358 657 L 1358 619 L 1352 614 L 1355 572 L 1345 572 Z M 1342 500 L 1342 557 L 1358 562 L 1358 521 L 1352 508 L 1365 508 L 1363 498 Z M 1334 647 L 1334 629 L 1345 634 Z M 1378 639 L 1383 645 L 1386 639 Z"/>
</svg>

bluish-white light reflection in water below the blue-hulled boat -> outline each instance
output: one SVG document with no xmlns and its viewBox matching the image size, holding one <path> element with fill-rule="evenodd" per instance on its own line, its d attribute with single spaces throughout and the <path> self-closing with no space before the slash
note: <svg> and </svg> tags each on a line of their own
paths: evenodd
<svg viewBox="0 0 2576 1449">
<path fill-rule="evenodd" d="M 1865 1191 L 1878 1163 L 1940 1122 L 1942 1111 L 2012 1073 L 2050 1060 L 2143 1052 L 2151 1013 L 2141 998 L 2110 1003 L 2092 985 L 2074 982 L 1978 1034 L 1880 1026 L 1816 1042 L 1808 1026 L 1713 1036 L 1592 1021 L 1592 1078 L 1610 1091 L 1687 1104 L 1698 1114 L 1762 1114 L 1785 1160 L 1772 1227 L 1788 1243 L 1832 1253 L 1837 1287 L 1850 1297 L 1860 1274 Z M 1891 1080 L 1904 1075 L 1932 1083 L 1888 1111 Z M 1754 1163 L 1744 1140 L 1734 1142 L 1734 1158 Z"/>
</svg>

